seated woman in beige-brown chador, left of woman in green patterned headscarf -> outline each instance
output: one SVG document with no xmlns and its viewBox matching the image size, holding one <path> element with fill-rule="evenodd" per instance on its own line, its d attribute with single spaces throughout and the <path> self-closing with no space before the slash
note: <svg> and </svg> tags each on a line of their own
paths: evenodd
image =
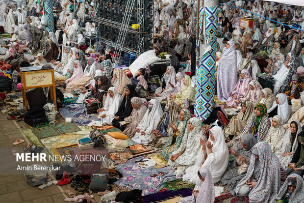
<svg viewBox="0 0 304 203">
<path fill-rule="evenodd" d="M 238 138 L 241 135 L 248 119 L 253 115 L 253 113 L 253 103 L 246 101 L 241 104 L 241 112 L 230 119 L 227 127 L 224 129 L 225 138 L 230 140 L 230 142 L 227 143 L 229 148 L 232 147 L 235 138 Z"/>
</svg>

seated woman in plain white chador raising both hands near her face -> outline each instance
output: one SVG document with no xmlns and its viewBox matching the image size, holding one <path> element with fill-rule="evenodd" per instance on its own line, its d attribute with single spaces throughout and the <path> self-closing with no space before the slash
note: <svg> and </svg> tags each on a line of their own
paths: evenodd
<svg viewBox="0 0 304 203">
<path fill-rule="evenodd" d="M 191 120 L 191 119 L 190 119 Z M 199 153 L 196 156 L 196 162 L 193 166 L 186 169 L 186 174 L 183 175 L 183 180 L 197 183 L 198 177 L 195 173 L 202 168 L 208 169 L 213 178 L 213 182 L 220 181 L 222 175 L 228 166 L 229 151 L 225 142 L 223 130 L 220 126 L 214 126 L 209 131 L 209 139 L 206 143 L 205 136 L 200 138 Z"/>
</svg>

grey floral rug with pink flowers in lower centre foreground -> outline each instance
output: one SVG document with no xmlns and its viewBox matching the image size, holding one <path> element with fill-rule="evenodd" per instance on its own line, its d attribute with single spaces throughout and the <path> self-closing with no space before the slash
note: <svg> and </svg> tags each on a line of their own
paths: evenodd
<svg viewBox="0 0 304 203">
<path fill-rule="evenodd" d="M 115 184 L 130 189 L 143 190 L 142 195 L 150 195 L 159 192 L 163 187 L 163 182 L 176 179 L 170 166 L 156 169 L 155 167 L 141 168 L 138 162 L 144 159 L 140 156 L 128 160 L 126 163 L 116 165 L 117 171 L 123 174 Z"/>
</svg>

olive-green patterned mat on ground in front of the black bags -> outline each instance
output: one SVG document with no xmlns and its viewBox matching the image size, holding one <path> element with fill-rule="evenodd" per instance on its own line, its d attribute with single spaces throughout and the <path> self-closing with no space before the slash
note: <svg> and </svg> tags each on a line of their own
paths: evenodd
<svg viewBox="0 0 304 203">
<path fill-rule="evenodd" d="M 66 133 L 74 133 L 81 130 L 75 123 L 60 122 L 50 125 L 50 127 L 38 129 L 32 128 L 32 132 L 38 138 L 48 138 Z"/>
</svg>

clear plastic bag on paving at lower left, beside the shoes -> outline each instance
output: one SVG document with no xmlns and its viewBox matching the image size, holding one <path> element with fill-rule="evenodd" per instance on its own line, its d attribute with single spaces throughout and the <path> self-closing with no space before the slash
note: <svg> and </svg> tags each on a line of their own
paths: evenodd
<svg viewBox="0 0 304 203">
<path fill-rule="evenodd" d="M 42 185 L 48 178 L 48 172 L 46 170 L 37 170 L 39 167 L 43 167 L 40 164 L 30 165 L 26 170 L 25 178 L 30 186 Z"/>
</svg>

